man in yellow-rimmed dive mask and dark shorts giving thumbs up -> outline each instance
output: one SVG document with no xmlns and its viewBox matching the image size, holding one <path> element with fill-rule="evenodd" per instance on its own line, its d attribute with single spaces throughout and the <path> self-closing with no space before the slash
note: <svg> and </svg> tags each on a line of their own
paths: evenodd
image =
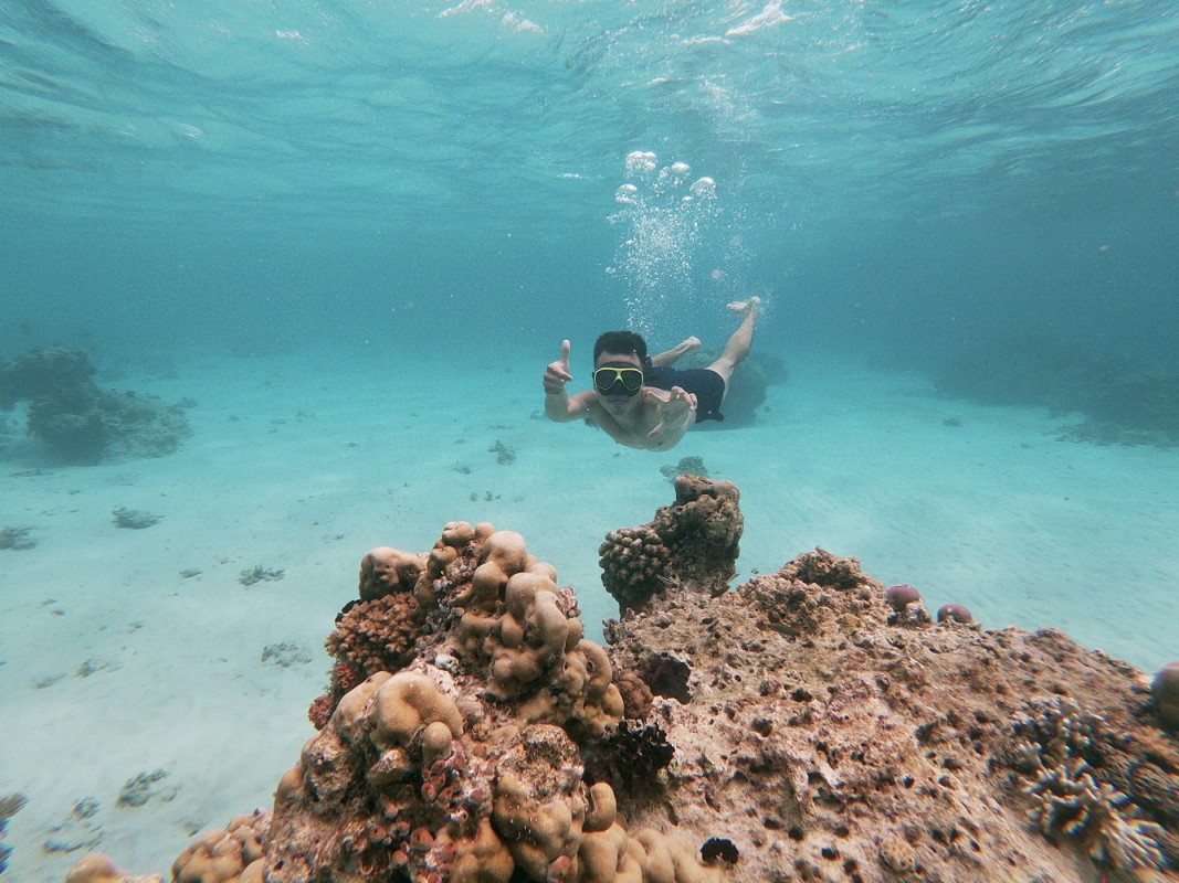
<svg viewBox="0 0 1179 883">
<path fill-rule="evenodd" d="M 620 445 L 645 451 L 674 447 L 700 420 L 723 420 L 720 405 L 733 370 L 749 356 L 760 298 L 729 305 L 744 317 L 720 358 L 706 369 L 679 371 L 672 365 L 700 348 L 687 338 L 672 350 L 647 357 L 646 341 L 632 331 L 607 331 L 593 348 L 593 389 L 569 396 L 569 341 L 561 358 L 545 369 L 545 416 L 558 423 L 587 419 Z"/>
</svg>

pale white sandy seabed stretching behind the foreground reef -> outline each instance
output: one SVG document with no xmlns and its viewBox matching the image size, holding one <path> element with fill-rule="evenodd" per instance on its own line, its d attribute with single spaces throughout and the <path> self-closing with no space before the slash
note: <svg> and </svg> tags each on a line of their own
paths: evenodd
<svg viewBox="0 0 1179 883">
<path fill-rule="evenodd" d="M 518 530 L 599 637 L 617 608 L 598 544 L 671 502 L 659 467 L 685 456 L 742 489 L 740 578 L 822 545 L 988 628 L 1061 628 L 1147 671 L 1179 657 L 1179 452 L 1058 442 L 1036 410 L 798 356 L 759 425 L 653 454 L 541 419 L 551 356 L 459 358 L 206 358 L 118 383 L 198 400 L 176 454 L 20 476 L 32 464 L 9 450 L 0 526 L 32 527 L 37 546 L 0 551 L 0 795 L 29 798 L 6 879 L 64 877 L 86 850 L 42 844 L 85 838 L 51 830 L 81 798 L 99 804 L 97 849 L 165 874 L 195 832 L 268 805 L 314 732 L 322 642 L 375 545 L 424 550 L 454 519 Z M 119 530 L 116 506 L 163 520 Z M 284 577 L 242 586 L 256 565 Z M 311 662 L 262 662 L 271 644 Z M 157 769 L 145 805 L 117 805 Z"/>
</svg>

